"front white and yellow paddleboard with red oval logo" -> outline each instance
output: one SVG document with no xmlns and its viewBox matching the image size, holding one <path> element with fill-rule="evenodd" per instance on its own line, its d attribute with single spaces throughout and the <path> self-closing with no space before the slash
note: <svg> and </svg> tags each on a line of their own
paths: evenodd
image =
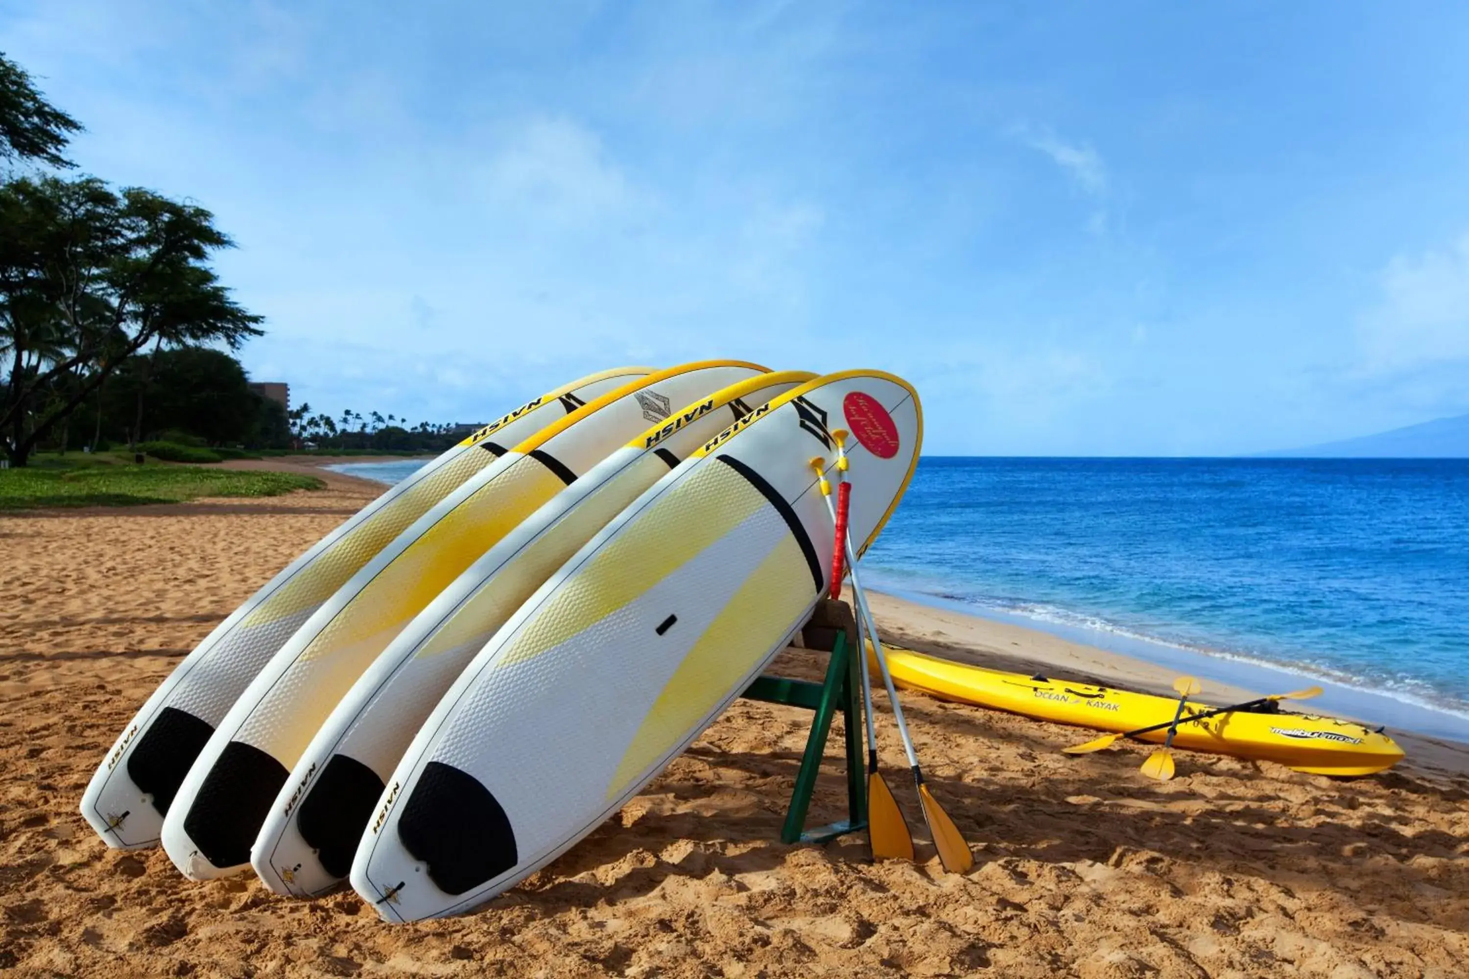
<svg viewBox="0 0 1469 979">
<path fill-rule="evenodd" d="M 566 851 L 663 771 L 801 628 L 831 518 L 809 459 L 845 427 L 865 547 L 918 458 L 918 398 L 829 374 L 720 433 L 505 622 L 398 763 L 353 860 L 389 920 L 467 910 Z"/>
</svg>

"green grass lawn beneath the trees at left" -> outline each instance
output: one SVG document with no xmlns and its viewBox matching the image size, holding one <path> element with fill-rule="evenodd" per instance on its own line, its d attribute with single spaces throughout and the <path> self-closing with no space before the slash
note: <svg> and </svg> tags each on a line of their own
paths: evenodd
<svg viewBox="0 0 1469 979">
<path fill-rule="evenodd" d="M 41 506 L 138 506 L 197 496 L 279 496 L 326 486 L 314 476 L 247 473 L 197 465 L 134 465 L 106 454 L 47 455 L 0 470 L 0 511 Z"/>
</svg>

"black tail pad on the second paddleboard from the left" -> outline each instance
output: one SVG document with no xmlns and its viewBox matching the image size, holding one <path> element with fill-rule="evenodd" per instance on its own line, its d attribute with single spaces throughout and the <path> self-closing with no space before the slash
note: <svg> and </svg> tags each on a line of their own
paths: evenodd
<svg viewBox="0 0 1469 979">
<path fill-rule="evenodd" d="M 256 834 L 289 775 L 285 765 L 253 744 L 226 744 L 184 816 L 184 832 L 198 856 L 222 872 L 250 863 Z"/>
</svg>

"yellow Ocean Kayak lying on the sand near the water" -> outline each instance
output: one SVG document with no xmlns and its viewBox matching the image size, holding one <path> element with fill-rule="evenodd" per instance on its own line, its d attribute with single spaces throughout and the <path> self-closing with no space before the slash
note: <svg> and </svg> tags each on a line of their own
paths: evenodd
<svg viewBox="0 0 1469 979">
<path fill-rule="evenodd" d="M 899 687 L 1042 721 L 1099 731 L 1134 731 L 1166 724 L 1178 709 L 1178 702 L 1169 697 L 967 666 L 886 643 L 883 652 Z M 1212 709 L 1206 703 L 1188 702 L 1174 747 L 1263 759 L 1315 775 L 1371 775 L 1397 765 L 1403 757 L 1403 749 L 1393 738 L 1338 718 L 1234 710 L 1187 722 L 1190 715 Z M 1140 735 L 1140 740 L 1162 743 L 1165 734 L 1155 731 Z"/>
</svg>

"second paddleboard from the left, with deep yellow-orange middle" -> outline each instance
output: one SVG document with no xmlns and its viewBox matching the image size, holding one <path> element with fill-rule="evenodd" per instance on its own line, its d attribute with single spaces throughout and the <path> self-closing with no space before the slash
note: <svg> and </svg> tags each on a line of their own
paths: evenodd
<svg viewBox="0 0 1469 979">
<path fill-rule="evenodd" d="M 239 696 L 179 787 L 163 848 L 192 879 L 244 869 L 307 743 L 372 660 L 486 549 L 676 405 L 765 373 L 702 361 L 638 377 L 536 432 L 398 534 Z"/>
</svg>

